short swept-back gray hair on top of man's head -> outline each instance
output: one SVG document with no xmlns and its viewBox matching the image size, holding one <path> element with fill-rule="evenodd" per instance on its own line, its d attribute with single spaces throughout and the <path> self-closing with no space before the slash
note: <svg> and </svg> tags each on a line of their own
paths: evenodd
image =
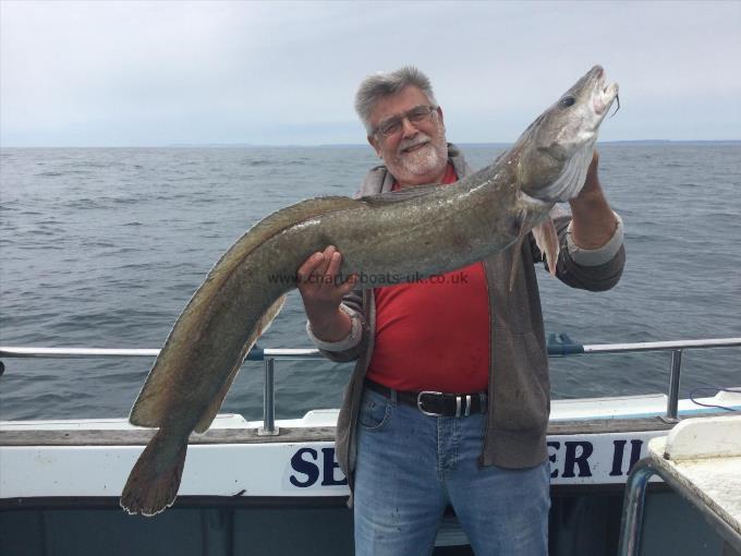
<svg viewBox="0 0 741 556">
<path fill-rule="evenodd" d="M 437 106 L 429 78 L 414 65 L 404 65 L 389 73 L 375 73 L 363 80 L 355 95 L 355 111 L 361 117 L 368 133 L 373 131 L 370 114 L 374 108 L 376 108 L 376 104 L 384 98 L 400 93 L 410 85 L 422 90 L 427 96 L 427 100 L 432 105 Z"/>
</svg>

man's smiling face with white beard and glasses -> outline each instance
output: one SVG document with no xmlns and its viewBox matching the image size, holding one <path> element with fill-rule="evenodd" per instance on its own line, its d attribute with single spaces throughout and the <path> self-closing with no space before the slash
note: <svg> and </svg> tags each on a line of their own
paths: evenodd
<svg viewBox="0 0 741 556">
<path fill-rule="evenodd" d="M 386 97 L 376 105 L 370 124 L 377 128 L 389 118 L 418 106 L 430 106 L 427 96 L 417 87 L 404 87 L 399 94 Z M 368 135 L 368 142 L 402 186 L 439 182 L 445 174 L 448 146 L 439 108 L 430 118 L 416 124 L 404 118 L 398 132 L 387 136 L 378 132 Z"/>
</svg>

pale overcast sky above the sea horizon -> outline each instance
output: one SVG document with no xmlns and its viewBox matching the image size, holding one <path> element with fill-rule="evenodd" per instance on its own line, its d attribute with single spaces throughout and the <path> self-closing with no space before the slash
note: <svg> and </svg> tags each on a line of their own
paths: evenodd
<svg viewBox="0 0 741 556">
<path fill-rule="evenodd" d="M 741 2 L 0 0 L 0 146 L 361 144 L 417 65 L 448 138 L 512 142 L 595 63 L 603 141 L 741 140 Z"/>
</svg>

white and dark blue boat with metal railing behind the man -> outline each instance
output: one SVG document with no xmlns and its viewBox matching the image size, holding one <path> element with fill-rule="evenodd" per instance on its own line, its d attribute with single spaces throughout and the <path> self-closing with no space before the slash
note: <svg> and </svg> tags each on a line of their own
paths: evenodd
<svg viewBox="0 0 741 556">
<path fill-rule="evenodd" d="M 551 335 L 549 356 L 671 353 L 667 392 L 551 402 L 552 556 L 615 554 L 627 478 L 648 440 L 688 418 L 741 412 L 741 387 L 679 399 L 684 351 L 738 347 L 741 338 L 581 345 Z M 0 361 L 157 353 L 0 347 Z M 333 448 L 338 410 L 315 409 L 290 420 L 275 415 L 276 362 L 321 355 L 315 349 L 255 348 L 247 359 L 264 365 L 264 419 L 219 414 L 209 431 L 193 435 L 178 499 L 153 518 L 119 507 L 153 430 L 125 419 L 0 422 L 0 554 L 352 554 L 349 489 Z M 724 554 L 715 531 L 658 478 L 648 493 L 644 554 Z M 450 508 L 434 554 L 473 554 Z"/>
</svg>

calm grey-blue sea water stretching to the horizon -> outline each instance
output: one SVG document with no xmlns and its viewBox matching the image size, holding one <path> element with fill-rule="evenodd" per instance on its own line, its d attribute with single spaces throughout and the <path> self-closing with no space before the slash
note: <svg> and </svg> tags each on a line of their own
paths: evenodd
<svg viewBox="0 0 741 556">
<path fill-rule="evenodd" d="M 500 149 L 465 149 L 475 168 Z M 584 343 L 741 336 L 741 145 L 605 145 L 602 180 L 628 264 L 606 293 L 539 274 L 546 328 Z M 369 148 L 3 149 L 0 345 L 159 348 L 214 262 L 251 225 L 352 194 Z M 263 347 L 308 347 L 292 294 Z M 0 419 L 125 416 L 151 360 L 12 360 Z M 554 397 L 665 391 L 669 354 L 551 359 Z M 351 365 L 277 364 L 279 418 L 338 407 Z M 690 352 L 682 392 L 741 385 L 738 350 Z M 262 414 L 245 363 L 222 411 Z"/>
</svg>

